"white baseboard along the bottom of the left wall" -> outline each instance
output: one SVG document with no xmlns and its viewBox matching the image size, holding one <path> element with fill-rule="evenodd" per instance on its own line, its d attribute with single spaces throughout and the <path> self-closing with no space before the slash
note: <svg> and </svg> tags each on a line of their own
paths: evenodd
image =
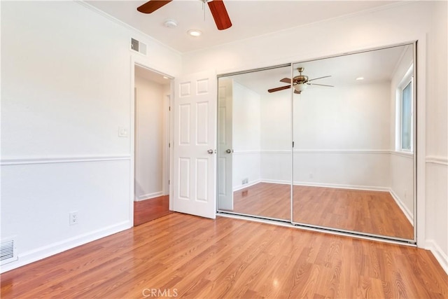
<svg viewBox="0 0 448 299">
<path fill-rule="evenodd" d="M 133 225 L 134 224 L 129 220 L 122 221 L 115 225 L 111 225 L 100 230 L 95 230 L 94 232 L 88 232 L 86 234 L 71 237 L 69 239 L 65 239 L 61 242 L 55 242 L 47 246 L 42 246 L 25 253 L 19 253 L 18 260 L 15 260 L 14 262 L 8 263 L 6 265 L 1 265 L 0 273 L 7 272 L 24 265 L 28 265 L 29 263 L 34 263 L 37 260 L 42 260 L 43 258 L 54 256 L 57 253 L 61 253 L 66 250 L 73 249 L 77 246 L 95 241 L 97 239 L 113 235 L 117 232 L 127 230 L 129 228 L 132 228 Z"/>
</svg>

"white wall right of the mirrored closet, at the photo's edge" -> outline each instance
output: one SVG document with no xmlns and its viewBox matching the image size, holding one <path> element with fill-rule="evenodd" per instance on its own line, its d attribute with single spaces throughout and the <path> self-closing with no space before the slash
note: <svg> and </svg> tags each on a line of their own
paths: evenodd
<svg viewBox="0 0 448 299">
<path fill-rule="evenodd" d="M 447 6 L 447 1 L 437 1 L 433 4 L 428 29 L 426 238 L 428 248 L 435 253 L 435 257 L 448 273 Z"/>
</svg>

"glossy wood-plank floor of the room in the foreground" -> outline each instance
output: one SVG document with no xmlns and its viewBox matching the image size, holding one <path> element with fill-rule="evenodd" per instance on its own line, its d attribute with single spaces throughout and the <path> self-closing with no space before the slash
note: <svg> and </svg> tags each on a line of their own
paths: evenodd
<svg viewBox="0 0 448 299">
<path fill-rule="evenodd" d="M 448 298 L 423 249 L 173 213 L 1 274 L 1 298 Z"/>
</svg>

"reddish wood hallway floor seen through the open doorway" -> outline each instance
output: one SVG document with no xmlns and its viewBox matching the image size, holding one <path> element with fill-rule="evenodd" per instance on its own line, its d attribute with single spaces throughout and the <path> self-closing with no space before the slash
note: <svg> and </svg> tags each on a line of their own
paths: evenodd
<svg viewBox="0 0 448 299">
<path fill-rule="evenodd" d="M 169 195 L 134 202 L 134 226 L 171 214 Z"/>
</svg>

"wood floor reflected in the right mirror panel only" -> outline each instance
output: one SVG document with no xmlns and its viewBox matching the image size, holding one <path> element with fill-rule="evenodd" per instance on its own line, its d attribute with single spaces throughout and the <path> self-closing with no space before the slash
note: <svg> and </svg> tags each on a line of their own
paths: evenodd
<svg viewBox="0 0 448 299">
<path fill-rule="evenodd" d="M 294 221 L 413 239 L 414 227 L 390 193 L 294 186 Z"/>
</svg>

